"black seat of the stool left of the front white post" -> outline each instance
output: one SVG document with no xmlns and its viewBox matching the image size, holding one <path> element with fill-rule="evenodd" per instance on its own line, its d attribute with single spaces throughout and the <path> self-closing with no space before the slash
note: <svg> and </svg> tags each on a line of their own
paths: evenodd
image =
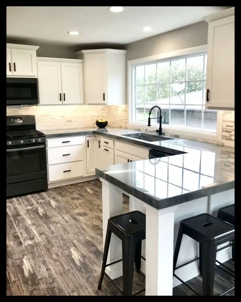
<svg viewBox="0 0 241 302">
<path fill-rule="evenodd" d="M 109 222 L 125 235 L 133 236 L 136 232 L 146 232 L 146 215 L 139 211 L 111 217 Z"/>
</svg>

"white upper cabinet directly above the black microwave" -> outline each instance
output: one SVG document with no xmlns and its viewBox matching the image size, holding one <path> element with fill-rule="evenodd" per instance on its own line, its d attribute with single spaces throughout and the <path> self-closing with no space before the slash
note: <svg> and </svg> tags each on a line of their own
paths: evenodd
<svg viewBox="0 0 241 302">
<path fill-rule="evenodd" d="M 38 48 L 39 46 L 7 43 L 7 76 L 37 77 Z"/>
</svg>

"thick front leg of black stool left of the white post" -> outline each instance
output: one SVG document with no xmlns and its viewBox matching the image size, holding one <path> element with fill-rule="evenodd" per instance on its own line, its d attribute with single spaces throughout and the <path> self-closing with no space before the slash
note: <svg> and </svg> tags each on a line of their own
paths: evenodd
<svg viewBox="0 0 241 302">
<path fill-rule="evenodd" d="M 122 241 L 123 296 L 132 295 L 136 243 L 125 236 Z"/>
</svg>

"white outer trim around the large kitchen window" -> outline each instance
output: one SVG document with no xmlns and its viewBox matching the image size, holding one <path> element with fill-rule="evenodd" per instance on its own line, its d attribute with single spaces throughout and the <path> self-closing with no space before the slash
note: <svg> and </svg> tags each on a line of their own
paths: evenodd
<svg viewBox="0 0 241 302">
<path fill-rule="evenodd" d="M 154 56 L 148 56 L 145 58 L 135 59 L 127 61 L 127 104 L 128 104 L 128 127 L 129 128 L 139 128 L 140 130 L 144 130 L 148 128 L 149 131 L 155 131 L 159 128 L 158 124 L 154 124 L 151 127 L 147 127 L 147 123 L 145 122 L 136 122 L 132 120 L 133 111 L 135 110 L 135 94 L 134 94 L 134 68 L 136 66 L 151 64 L 161 61 L 178 59 L 183 56 L 189 55 L 202 55 L 208 49 L 207 45 L 201 45 L 191 48 L 186 48 L 182 50 L 176 50 L 170 53 L 161 53 Z M 211 141 L 215 143 L 221 143 L 222 140 L 222 123 L 223 123 L 223 111 L 217 111 L 217 131 L 213 133 L 211 131 L 205 129 L 193 129 L 185 127 L 183 129 L 175 128 L 171 125 L 162 124 L 163 133 L 167 133 L 169 135 L 178 135 L 180 137 L 185 138 L 196 138 L 204 141 Z"/>
</svg>

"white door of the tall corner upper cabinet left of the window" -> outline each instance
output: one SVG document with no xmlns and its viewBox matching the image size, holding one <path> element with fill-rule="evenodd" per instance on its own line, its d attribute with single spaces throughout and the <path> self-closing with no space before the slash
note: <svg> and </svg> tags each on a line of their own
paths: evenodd
<svg viewBox="0 0 241 302">
<path fill-rule="evenodd" d="M 85 97 L 87 104 L 106 103 L 105 53 L 85 55 Z"/>
</svg>

